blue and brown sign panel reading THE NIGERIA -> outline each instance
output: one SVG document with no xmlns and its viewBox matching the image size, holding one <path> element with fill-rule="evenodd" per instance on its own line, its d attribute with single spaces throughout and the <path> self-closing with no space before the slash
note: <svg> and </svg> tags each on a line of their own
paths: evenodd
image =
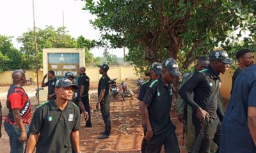
<svg viewBox="0 0 256 153">
<path fill-rule="evenodd" d="M 48 71 L 53 70 L 56 77 L 64 77 L 70 71 L 79 76 L 78 53 L 48 53 Z"/>
</svg>

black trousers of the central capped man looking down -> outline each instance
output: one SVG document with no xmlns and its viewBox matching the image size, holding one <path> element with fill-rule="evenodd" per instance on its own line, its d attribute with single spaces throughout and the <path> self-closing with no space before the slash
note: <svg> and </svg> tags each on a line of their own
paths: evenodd
<svg viewBox="0 0 256 153">
<path fill-rule="evenodd" d="M 160 135 L 154 135 L 153 138 L 147 142 L 145 152 L 160 153 L 164 145 L 164 153 L 179 153 L 178 139 L 175 131 L 168 131 Z"/>
</svg>

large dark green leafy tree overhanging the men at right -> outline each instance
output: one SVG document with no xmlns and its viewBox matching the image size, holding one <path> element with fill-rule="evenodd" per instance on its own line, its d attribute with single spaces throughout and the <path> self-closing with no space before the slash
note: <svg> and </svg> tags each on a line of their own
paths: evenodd
<svg viewBox="0 0 256 153">
<path fill-rule="evenodd" d="M 95 3 L 86 0 L 84 10 L 97 17 L 91 22 L 102 34 L 100 43 L 129 48 L 128 59 L 138 68 L 161 62 L 166 57 L 173 57 L 180 66 L 188 68 L 197 56 L 208 54 L 220 43 L 226 44 L 230 31 L 243 31 L 255 24 L 252 3 L 241 0 L 99 0 Z M 237 37 L 241 37 L 241 33 Z"/>
</svg>

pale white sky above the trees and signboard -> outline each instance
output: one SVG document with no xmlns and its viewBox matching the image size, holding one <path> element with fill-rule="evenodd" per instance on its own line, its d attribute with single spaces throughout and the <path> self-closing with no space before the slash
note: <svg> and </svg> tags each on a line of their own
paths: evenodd
<svg viewBox="0 0 256 153">
<path fill-rule="evenodd" d="M 88 11 L 82 10 L 85 5 L 81 0 L 34 0 L 36 27 L 45 28 L 45 25 L 53 27 L 67 27 L 68 34 L 77 38 L 83 35 L 90 40 L 99 40 L 100 32 L 94 29 L 89 20 L 95 18 Z M 0 34 L 13 36 L 13 45 L 20 48 L 16 41 L 18 36 L 33 29 L 33 1 L 32 0 L 0 0 Z M 122 48 L 108 48 L 111 54 L 124 57 Z M 104 48 L 93 48 L 92 54 L 103 55 Z"/>
</svg>

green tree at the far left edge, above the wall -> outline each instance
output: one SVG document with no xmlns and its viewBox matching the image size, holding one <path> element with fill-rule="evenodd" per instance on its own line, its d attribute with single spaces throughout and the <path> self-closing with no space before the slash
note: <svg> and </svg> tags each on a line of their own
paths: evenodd
<svg viewBox="0 0 256 153">
<path fill-rule="evenodd" d="M 0 35 L 0 71 L 22 67 L 22 53 L 12 44 L 12 37 Z"/>
</svg>

